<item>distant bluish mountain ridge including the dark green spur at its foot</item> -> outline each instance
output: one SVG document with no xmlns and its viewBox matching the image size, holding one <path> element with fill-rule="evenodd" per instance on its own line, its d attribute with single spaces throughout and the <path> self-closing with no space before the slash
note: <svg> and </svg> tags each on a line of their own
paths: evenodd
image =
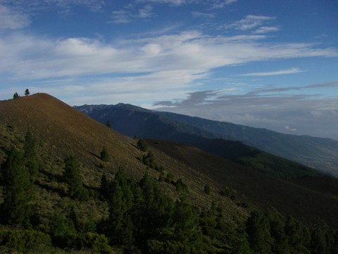
<svg viewBox="0 0 338 254">
<path fill-rule="evenodd" d="M 109 120 L 111 127 L 123 135 L 137 135 L 194 145 L 227 159 L 255 157 L 254 160 L 251 159 L 251 162 L 245 160 L 246 166 L 284 178 L 317 173 L 299 164 L 282 161 L 262 150 L 324 173 L 332 175 L 338 173 L 338 142 L 335 140 L 285 135 L 266 129 L 150 111 L 130 104 L 83 105 L 75 108 L 101 123 Z M 260 150 L 252 147 L 258 147 Z M 254 156 L 256 153 L 259 156 Z M 242 162 L 244 162 L 243 159 Z M 285 166 L 284 173 L 281 167 L 277 169 L 277 172 L 274 171 L 271 164 L 277 167 Z"/>
</svg>

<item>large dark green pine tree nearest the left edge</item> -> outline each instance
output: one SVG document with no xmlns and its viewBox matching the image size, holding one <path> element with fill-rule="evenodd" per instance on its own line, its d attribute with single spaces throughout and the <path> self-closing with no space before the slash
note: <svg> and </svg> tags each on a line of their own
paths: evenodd
<svg viewBox="0 0 338 254">
<path fill-rule="evenodd" d="M 29 224 L 34 198 L 22 152 L 13 148 L 4 164 L 4 214 L 9 224 Z"/>
</svg>

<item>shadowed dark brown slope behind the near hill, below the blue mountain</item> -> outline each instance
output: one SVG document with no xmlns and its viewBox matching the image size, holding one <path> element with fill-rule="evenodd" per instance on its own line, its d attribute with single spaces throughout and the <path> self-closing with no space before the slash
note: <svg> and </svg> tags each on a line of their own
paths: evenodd
<svg viewBox="0 0 338 254">
<path fill-rule="evenodd" d="M 326 222 L 338 226 L 338 196 L 320 191 L 315 178 L 311 178 L 313 183 L 306 182 L 311 186 L 306 186 L 297 184 L 298 181 L 292 183 L 262 174 L 194 147 L 154 141 L 151 145 L 206 174 L 215 181 L 215 186 L 234 188 L 248 202 L 278 210 L 285 216 L 291 214 L 307 224 Z M 318 178 L 320 183 L 322 180 Z"/>
</svg>

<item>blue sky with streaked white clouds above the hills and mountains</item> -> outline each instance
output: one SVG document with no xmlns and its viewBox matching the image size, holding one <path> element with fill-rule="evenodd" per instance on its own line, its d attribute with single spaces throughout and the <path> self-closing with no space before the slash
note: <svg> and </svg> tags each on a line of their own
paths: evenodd
<svg viewBox="0 0 338 254">
<path fill-rule="evenodd" d="M 338 140 L 337 0 L 0 0 L 0 99 Z"/>
</svg>

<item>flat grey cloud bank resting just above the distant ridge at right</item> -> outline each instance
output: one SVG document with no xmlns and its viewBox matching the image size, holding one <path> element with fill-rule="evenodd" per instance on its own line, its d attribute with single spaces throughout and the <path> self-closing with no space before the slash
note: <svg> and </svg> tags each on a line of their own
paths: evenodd
<svg viewBox="0 0 338 254">
<path fill-rule="evenodd" d="M 313 84 L 314 87 L 334 87 L 338 81 Z M 186 99 L 158 101 L 154 107 L 162 111 L 227 121 L 244 126 L 268 128 L 281 133 L 308 134 L 338 140 L 336 130 L 338 104 L 336 97 L 320 97 L 304 91 L 299 95 L 283 93 L 267 95 L 270 88 L 240 90 L 206 90 L 189 92 Z M 275 89 L 277 90 L 278 87 Z"/>
</svg>

